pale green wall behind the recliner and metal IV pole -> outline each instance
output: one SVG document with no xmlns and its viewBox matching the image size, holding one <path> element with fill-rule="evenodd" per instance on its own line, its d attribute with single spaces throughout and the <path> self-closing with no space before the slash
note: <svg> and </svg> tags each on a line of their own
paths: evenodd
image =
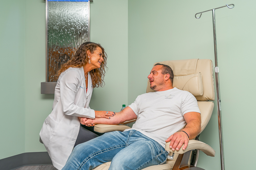
<svg viewBox="0 0 256 170">
<path fill-rule="evenodd" d="M 255 1 L 129 0 L 128 103 L 145 93 L 155 62 L 189 58 L 214 61 L 212 13 L 203 13 L 200 19 L 195 14 L 226 3 L 235 7 L 216 10 L 225 168 L 254 169 Z M 220 169 L 216 107 L 200 140 L 214 148 L 216 156 L 201 152 L 198 166 Z"/>
</svg>

